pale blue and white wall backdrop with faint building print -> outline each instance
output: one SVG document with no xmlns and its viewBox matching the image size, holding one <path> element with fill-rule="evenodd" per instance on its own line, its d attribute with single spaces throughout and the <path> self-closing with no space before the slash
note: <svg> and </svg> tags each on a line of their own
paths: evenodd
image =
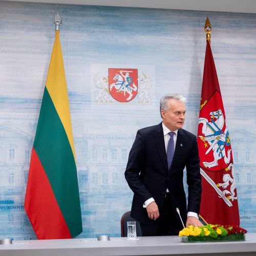
<svg viewBox="0 0 256 256">
<path fill-rule="evenodd" d="M 59 8 L 82 210 L 79 237 L 120 236 L 120 218 L 130 210 L 133 195 L 124 179 L 127 156 L 136 131 L 161 121 L 161 96 L 178 92 L 187 98 L 184 128 L 197 134 L 207 16 L 233 150 L 241 226 L 256 232 L 256 15 Z M 54 12 L 53 4 L 0 1 L 1 239 L 36 239 L 24 197 L 55 37 Z M 137 70 L 138 90 L 132 100 L 127 100 L 129 92 L 127 102 L 109 94 L 109 69 Z"/>
</svg>

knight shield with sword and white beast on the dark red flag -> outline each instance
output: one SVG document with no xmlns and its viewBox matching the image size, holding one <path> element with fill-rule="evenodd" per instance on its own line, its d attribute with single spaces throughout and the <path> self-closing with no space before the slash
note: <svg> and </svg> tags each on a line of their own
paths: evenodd
<svg viewBox="0 0 256 256">
<path fill-rule="evenodd" d="M 201 105 L 198 144 L 202 176 L 231 207 L 237 191 L 225 112 L 217 90 Z"/>
</svg>

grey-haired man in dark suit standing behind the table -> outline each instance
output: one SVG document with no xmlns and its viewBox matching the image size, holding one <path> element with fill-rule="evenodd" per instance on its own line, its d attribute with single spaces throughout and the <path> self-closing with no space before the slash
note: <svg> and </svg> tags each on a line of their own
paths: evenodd
<svg viewBox="0 0 256 256">
<path fill-rule="evenodd" d="M 131 216 L 143 236 L 173 236 L 183 223 L 201 226 L 201 175 L 197 138 L 182 129 L 185 98 L 167 94 L 160 100 L 162 122 L 137 132 L 125 170 L 134 192 Z M 186 167 L 188 204 L 183 186 Z"/>
</svg>

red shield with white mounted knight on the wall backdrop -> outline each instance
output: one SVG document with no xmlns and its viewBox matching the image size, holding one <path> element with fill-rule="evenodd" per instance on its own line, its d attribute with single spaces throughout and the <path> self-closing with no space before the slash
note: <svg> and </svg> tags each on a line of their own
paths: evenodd
<svg viewBox="0 0 256 256">
<path fill-rule="evenodd" d="M 138 92 L 138 70 L 110 68 L 109 92 L 119 102 L 133 100 Z"/>
</svg>

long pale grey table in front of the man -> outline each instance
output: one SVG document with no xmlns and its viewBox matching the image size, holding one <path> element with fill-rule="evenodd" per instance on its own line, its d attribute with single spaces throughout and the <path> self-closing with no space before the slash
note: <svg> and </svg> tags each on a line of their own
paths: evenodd
<svg viewBox="0 0 256 256">
<path fill-rule="evenodd" d="M 176 236 L 139 237 L 138 240 L 110 238 L 25 240 L 0 245 L 0 256 L 114 256 L 114 255 L 256 255 L 256 233 L 246 241 L 183 243 Z"/>
</svg>

